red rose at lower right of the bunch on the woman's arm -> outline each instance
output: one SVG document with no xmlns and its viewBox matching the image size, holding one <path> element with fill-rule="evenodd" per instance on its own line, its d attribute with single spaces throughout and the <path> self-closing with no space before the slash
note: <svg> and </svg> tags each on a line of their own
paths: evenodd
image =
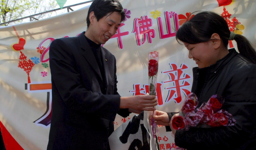
<svg viewBox="0 0 256 150">
<path fill-rule="evenodd" d="M 207 124 L 211 127 L 226 126 L 228 124 L 228 118 L 222 111 L 218 111 L 216 114 L 213 114 L 212 120 Z"/>
</svg>

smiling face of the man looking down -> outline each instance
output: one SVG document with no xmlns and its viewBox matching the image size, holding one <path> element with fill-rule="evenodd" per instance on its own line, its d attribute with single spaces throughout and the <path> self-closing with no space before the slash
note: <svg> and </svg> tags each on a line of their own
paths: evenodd
<svg viewBox="0 0 256 150">
<path fill-rule="evenodd" d="M 89 39 L 97 44 L 105 44 L 114 34 L 121 24 L 121 15 L 118 12 L 113 12 L 110 15 L 102 17 L 97 21 L 93 18 L 90 24 Z"/>
</svg>

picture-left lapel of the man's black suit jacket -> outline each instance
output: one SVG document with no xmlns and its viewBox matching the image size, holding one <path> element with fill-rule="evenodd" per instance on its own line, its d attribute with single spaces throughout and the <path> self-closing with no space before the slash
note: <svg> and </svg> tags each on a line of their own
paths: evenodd
<svg viewBox="0 0 256 150">
<path fill-rule="evenodd" d="M 95 70 L 95 72 L 98 74 L 98 76 L 102 80 L 98 63 L 94 57 L 93 51 L 91 50 L 89 43 L 85 38 L 84 32 L 81 33 L 78 37 L 81 44 L 81 48 L 84 50 L 82 55 L 85 57 L 87 62 L 91 65 L 91 67 Z"/>
</svg>

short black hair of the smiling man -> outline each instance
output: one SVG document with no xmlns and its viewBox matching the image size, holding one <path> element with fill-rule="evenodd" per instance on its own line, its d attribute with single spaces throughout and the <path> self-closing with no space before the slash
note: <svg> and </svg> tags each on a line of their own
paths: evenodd
<svg viewBox="0 0 256 150">
<path fill-rule="evenodd" d="M 90 25 L 89 16 L 91 12 L 94 12 L 97 21 L 113 12 L 120 13 L 121 22 L 125 20 L 125 11 L 118 0 L 94 0 L 88 10 L 88 15 L 86 18 L 87 27 Z"/>
</svg>

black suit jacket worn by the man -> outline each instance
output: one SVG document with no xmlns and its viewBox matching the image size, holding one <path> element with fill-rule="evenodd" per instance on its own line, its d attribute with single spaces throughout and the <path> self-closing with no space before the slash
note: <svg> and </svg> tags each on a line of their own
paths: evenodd
<svg viewBox="0 0 256 150">
<path fill-rule="evenodd" d="M 84 33 L 56 39 L 49 49 L 53 110 L 48 150 L 107 149 L 116 114 L 129 115 L 128 109 L 119 109 L 114 55 L 101 47 L 102 77 Z"/>
</svg>

